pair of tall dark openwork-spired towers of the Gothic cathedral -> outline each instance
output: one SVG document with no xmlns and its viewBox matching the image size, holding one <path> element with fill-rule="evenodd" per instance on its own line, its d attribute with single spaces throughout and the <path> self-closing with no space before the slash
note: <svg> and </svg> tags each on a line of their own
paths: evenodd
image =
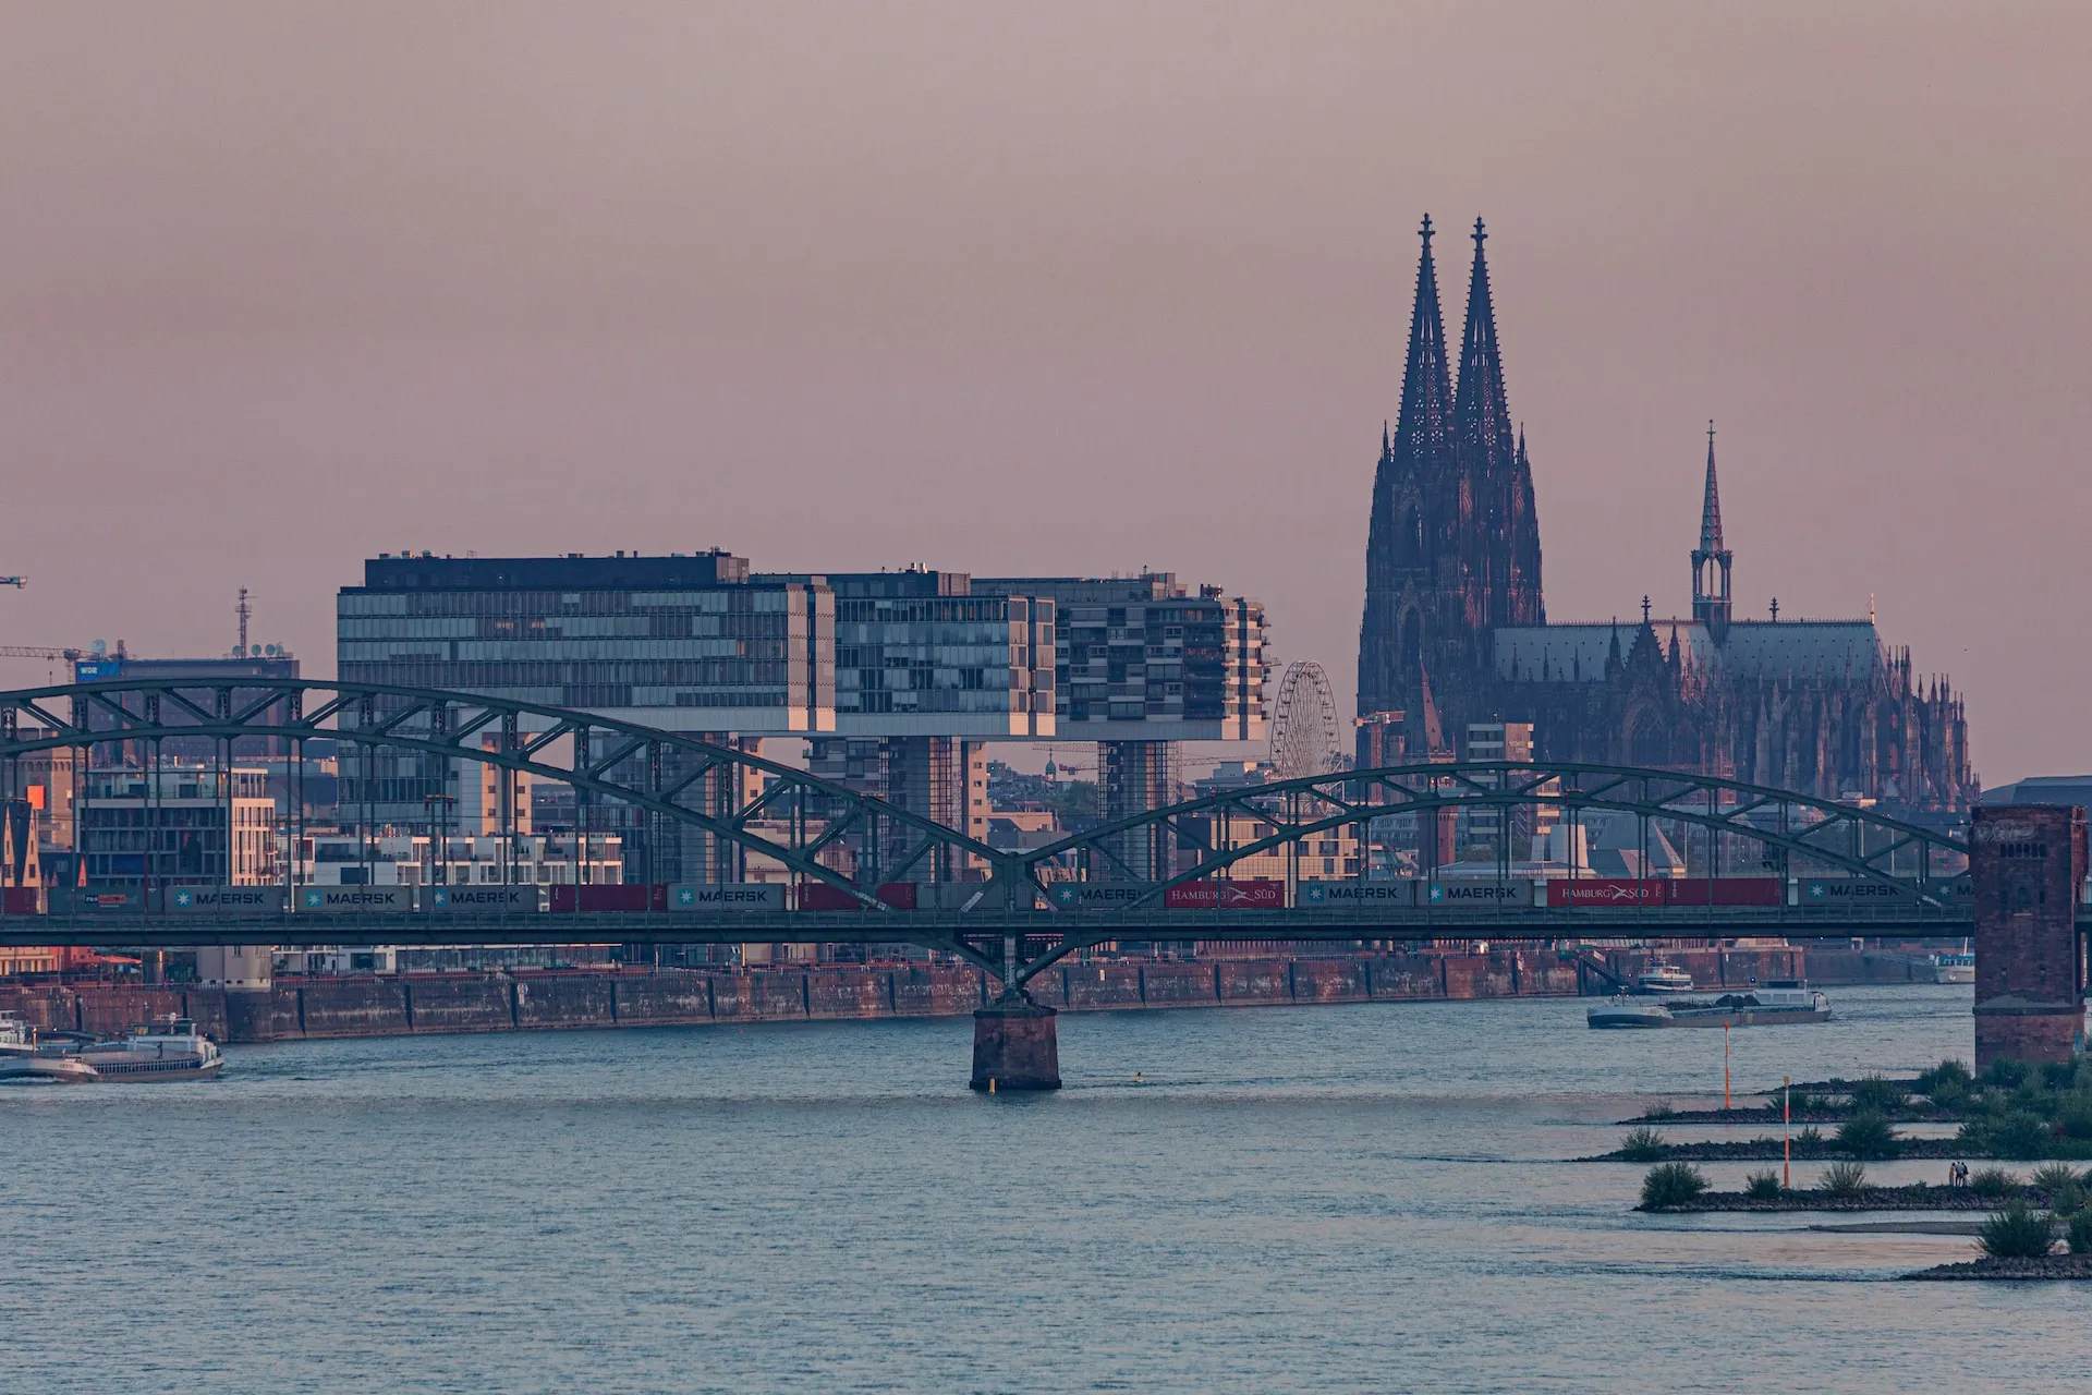
<svg viewBox="0 0 2092 1395">
<path fill-rule="evenodd" d="M 1479 218 L 1473 236 L 1456 389 L 1425 218 L 1402 410 L 1372 475 L 1360 715 L 1406 707 L 1414 722 L 1431 682 L 1466 686 L 1487 663 L 1490 630 L 1546 623 L 1533 468 L 1510 427 Z"/>
</svg>

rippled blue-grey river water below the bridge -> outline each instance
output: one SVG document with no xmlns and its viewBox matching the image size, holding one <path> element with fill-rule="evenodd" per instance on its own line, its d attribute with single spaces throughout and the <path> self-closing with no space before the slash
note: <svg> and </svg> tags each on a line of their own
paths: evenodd
<svg viewBox="0 0 2092 1395">
<path fill-rule="evenodd" d="M 1736 1088 L 1971 1054 L 1964 987 L 1833 1000 L 1734 1033 Z M 1640 1167 L 1563 1161 L 1720 1102 L 1718 1031 L 1067 1014 L 1067 1090 L 994 1100 L 969 1050 L 971 1021 L 565 1031 L 0 1090 L 0 1385 L 2086 1389 L 2086 1286 L 1891 1284 L 1969 1240 L 1646 1219 Z"/>
</svg>

